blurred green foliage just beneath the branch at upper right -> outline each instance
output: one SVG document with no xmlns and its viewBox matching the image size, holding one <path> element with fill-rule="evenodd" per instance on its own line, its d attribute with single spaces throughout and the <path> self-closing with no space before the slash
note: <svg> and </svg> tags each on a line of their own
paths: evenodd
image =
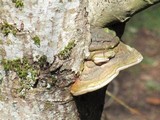
<svg viewBox="0 0 160 120">
<path fill-rule="evenodd" d="M 139 29 L 148 29 L 160 34 L 160 4 L 154 5 L 134 15 L 126 24 L 123 38 L 131 38 Z"/>
</svg>

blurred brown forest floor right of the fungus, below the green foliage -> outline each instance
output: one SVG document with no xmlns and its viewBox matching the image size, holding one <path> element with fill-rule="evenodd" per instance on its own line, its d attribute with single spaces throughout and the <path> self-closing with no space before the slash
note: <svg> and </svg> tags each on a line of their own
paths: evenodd
<svg viewBox="0 0 160 120">
<path fill-rule="evenodd" d="M 121 71 L 114 80 L 118 85 L 113 88 L 118 89 L 118 99 L 139 112 L 131 113 L 113 100 L 110 105 L 106 102 L 104 120 L 160 120 L 160 35 L 140 29 L 132 39 L 124 42 L 142 53 L 144 59 Z"/>
</svg>

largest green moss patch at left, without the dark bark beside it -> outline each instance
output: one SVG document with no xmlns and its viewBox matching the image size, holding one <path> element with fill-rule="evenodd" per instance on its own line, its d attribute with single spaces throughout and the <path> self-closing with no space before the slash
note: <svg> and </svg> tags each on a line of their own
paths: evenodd
<svg viewBox="0 0 160 120">
<path fill-rule="evenodd" d="M 14 71 L 20 78 L 19 87 L 14 94 L 24 97 L 27 91 L 34 87 L 37 77 L 39 76 L 39 68 L 29 62 L 27 58 L 6 60 L 3 59 L 1 64 L 6 72 Z"/>
</svg>

